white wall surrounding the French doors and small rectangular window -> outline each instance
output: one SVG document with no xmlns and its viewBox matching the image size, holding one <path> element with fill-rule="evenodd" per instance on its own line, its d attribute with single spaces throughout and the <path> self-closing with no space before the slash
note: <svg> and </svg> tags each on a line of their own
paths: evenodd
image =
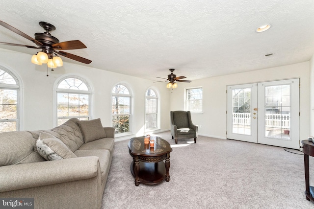
<svg viewBox="0 0 314 209">
<path fill-rule="evenodd" d="M 171 95 L 170 110 L 184 109 L 184 88 L 203 87 L 203 114 L 192 114 L 193 123 L 199 125 L 200 135 L 226 139 L 228 85 L 288 78 L 300 78 L 300 139 L 307 139 L 310 133 L 310 62 L 180 83 L 183 88 L 175 89 Z"/>
</svg>

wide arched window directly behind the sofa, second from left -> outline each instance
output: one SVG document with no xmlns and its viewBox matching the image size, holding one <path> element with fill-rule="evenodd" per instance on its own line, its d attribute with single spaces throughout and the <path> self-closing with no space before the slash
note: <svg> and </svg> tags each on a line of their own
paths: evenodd
<svg viewBox="0 0 314 209">
<path fill-rule="evenodd" d="M 71 76 L 61 79 L 56 89 L 56 125 L 73 117 L 89 120 L 90 97 L 90 88 L 81 78 Z"/>
</svg>

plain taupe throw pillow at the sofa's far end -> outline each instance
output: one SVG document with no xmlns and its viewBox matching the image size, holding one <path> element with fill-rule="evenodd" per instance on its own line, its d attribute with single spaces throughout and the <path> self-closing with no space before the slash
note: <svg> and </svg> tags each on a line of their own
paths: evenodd
<svg viewBox="0 0 314 209">
<path fill-rule="evenodd" d="M 78 126 L 83 134 L 85 143 L 107 137 L 100 118 L 94 120 L 80 120 L 78 121 Z"/>
</svg>

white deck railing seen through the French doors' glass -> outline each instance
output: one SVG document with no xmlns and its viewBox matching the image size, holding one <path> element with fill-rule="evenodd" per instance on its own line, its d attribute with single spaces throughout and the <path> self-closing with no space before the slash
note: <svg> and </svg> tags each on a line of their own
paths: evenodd
<svg viewBox="0 0 314 209">
<path fill-rule="evenodd" d="M 233 113 L 234 125 L 251 125 L 250 113 Z M 266 128 L 290 128 L 290 114 L 265 114 Z"/>
</svg>

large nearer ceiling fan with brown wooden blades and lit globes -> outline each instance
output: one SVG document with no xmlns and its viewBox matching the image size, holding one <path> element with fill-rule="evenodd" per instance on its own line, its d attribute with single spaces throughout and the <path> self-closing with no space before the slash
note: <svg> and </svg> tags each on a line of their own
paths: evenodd
<svg viewBox="0 0 314 209">
<path fill-rule="evenodd" d="M 19 34 L 20 36 L 23 36 L 24 38 L 26 38 L 29 41 L 36 44 L 37 47 L 36 46 L 21 45 L 21 44 L 11 44 L 11 43 L 5 43 L 5 42 L 0 42 L 0 44 L 1 45 L 9 45 L 9 46 L 26 46 L 27 48 L 41 49 L 41 52 L 38 52 L 37 55 L 34 55 L 34 56 L 37 56 L 37 61 L 39 61 L 39 63 L 35 63 L 35 61 L 33 62 L 33 58 L 35 58 L 34 56 L 32 57 L 32 63 L 38 64 L 38 65 L 41 65 L 42 63 L 47 63 L 48 67 L 51 67 L 51 66 L 49 66 L 48 59 L 52 59 L 52 58 L 54 59 L 55 57 L 57 57 L 57 55 L 61 55 L 61 56 L 67 57 L 69 59 L 72 59 L 72 60 L 75 60 L 75 61 L 78 61 L 81 63 L 85 63 L 85 64 L 89 64 L 92 62 L 91 60 L 85 59 L 83 57 L 80 57 L 80 56 L 77 56 L 74 54 L 70 54 L 70 53 L 65 52 L 65 51 L 60 51 L 60 50 L 86 48 L 86 46 L 82 42 L 80 42 L 78 40 L 59 42 L 59 40 L 57 38 L 53 37 L 50 34 L 50 32 L 52 30 L 55 30 L 55 27 L 52 24 L 46 23 L 46 22 L 39 22 L 39 24 L 40 24 L 40 26 L 42 26 L 46 30 L 46 32 L 35 33 L 35 37 L 32 38 L 32 37 L 26 35 L 25 33 L 23 33 L 22 31 L 16 29 L 15 27 L 0 21 L 0 25 L 2 25 L 3 27 Z M 44 52 L 44 53 L 42 53 L 42 52 Z M 47 60 L 41 61 L 39 54 L 44 55 L 47 58 Z M 57 57 L 57 58 L 59 58 L 59 60 L 61 60 L 60 57 Z M 57 58 L 55 60 L 57 60 Z M 53 67 L 53 64 L 52 64 L 52 68 L 62 66 L 62 60 L 59 62 L 61 62 L 61 64 L 60 63 L 57 64 L 58 62 L 54 63 L 54 61 L 53 61 L 53 63 L 56 66 Z"/>
</svg>

